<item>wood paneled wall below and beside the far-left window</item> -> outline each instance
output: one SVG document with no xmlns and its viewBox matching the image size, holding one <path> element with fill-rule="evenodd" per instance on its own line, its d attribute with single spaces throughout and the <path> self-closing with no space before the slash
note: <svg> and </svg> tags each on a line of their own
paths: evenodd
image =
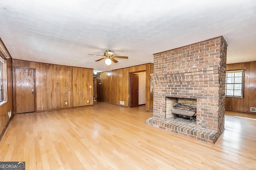
<svg viewBox="0 0 256 170">
<path fill-rule="evenodd" d="M 8 121 L 8 111 L 13 115 L 13 90 L 12 90 L 12 59 L 7 59 L 7 94 L 8 102 L 0 106 L 0 136 Z"/>
</svg>

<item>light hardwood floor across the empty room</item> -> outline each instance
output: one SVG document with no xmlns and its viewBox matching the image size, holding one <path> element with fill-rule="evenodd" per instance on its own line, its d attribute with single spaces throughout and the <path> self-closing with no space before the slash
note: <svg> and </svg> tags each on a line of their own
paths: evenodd
<svg viewBox="0 0 256 170">
<path fill-rule="evenodd" d="M 226 112 L 215 145 L 145 125 L 144 106 L 94 106 L 15 115 L 1 161 L 26 170 L 167 170 L 256 168 L 256 115 Z"/>
</svg>

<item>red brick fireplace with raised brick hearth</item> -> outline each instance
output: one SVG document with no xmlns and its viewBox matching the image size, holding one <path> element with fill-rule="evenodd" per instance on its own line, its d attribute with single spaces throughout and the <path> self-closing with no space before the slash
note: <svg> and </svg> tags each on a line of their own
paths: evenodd
<svg viewBox="0 0 256 170">
<path fill-rule="evenodd" d="M 146 124 L 214 144 L 224 131 L 227 46 L 220 36 L 154 54 L 153 117 Z M 175 121 L 170 98 L 196 105 L 196 123 Z"/>
</svg>

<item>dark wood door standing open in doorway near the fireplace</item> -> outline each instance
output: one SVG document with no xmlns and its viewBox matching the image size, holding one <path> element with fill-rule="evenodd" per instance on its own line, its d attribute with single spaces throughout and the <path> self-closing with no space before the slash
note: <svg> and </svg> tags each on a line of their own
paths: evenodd
<svg viewBox="0 0 256 170">
<path fill-rule="evenodd" d="M 131 74 L 131 107 L 139 106 L 139 75 Z"/>
</svg>

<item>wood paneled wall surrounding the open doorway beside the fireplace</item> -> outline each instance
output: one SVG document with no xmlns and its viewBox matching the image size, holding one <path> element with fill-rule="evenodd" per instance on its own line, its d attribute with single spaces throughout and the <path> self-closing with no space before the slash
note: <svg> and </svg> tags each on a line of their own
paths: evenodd
<svg viewBox="0 0 256 170">
<path fill-rule="evenodd" d="M 116 104 L 119 106 L 123 106 L 120 105 L 120 101 L 124 101 L 124 106 L 129 107 L 130 73 L 140 71 L 146 71 L 146 111 L 152 111 L 153 88 L 150 85 L 150 74 L 154 71 L 153 63 L 98 73 L 97 101 Z M 112 76 L 108 75 L 108 73 L 112 74 Z"/>
</svg>

